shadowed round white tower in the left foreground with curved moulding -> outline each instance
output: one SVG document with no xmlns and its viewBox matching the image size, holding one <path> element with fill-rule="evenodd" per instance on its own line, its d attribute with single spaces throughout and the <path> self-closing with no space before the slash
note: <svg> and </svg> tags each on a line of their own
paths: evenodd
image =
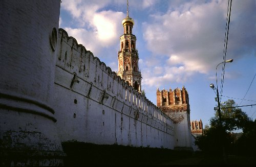
<svg viewBox="0 0 256 167">
<path fill-rule="evenodd" d="M 52 108 L 60 1 L 0 4 L 1 160 L 22 156 L 27 161 L 12 165 L 62 164 Z"/>
</svg>

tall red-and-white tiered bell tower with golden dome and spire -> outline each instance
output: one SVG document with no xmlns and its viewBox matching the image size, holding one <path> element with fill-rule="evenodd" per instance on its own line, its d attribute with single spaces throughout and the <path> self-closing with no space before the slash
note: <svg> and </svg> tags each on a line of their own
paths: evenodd
<svg viewBox="0 0 256 167">
<path fill-rule="evenodd" d="M 133 35 L 134 20 L 129 17 L 127 1 L 127 16 L 123 19 L 123 35 L 120 36 L 120 50 L 118 51 L 118 73 L 125 83 L 141 91 L 141 73 L 139 71 L 139 54 L 136 49 L 136 36 Z"/>
</svg>

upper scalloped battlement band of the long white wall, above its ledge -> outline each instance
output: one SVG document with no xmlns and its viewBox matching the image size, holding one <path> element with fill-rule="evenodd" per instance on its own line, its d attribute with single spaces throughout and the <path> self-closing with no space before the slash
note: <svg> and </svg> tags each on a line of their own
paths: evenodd
<svg viewBox="0 0 256 167">
<path fill-rule="evenodd" d="M 110 93 L 112 92 L 111 94 L 113 96 L 121 97 L 121 99 L 125 99 L 125 101 L 128 100 L 133 105 L 137 105 L 141 109 L 143 108 L 144 111 L 147 111 L 146 108 L 148 106 L 152 106 L 157 110 L 156 112 L 163 115 L 165 119 L 169 119 L 164 112 L 143 96 L 141 92 L 138 92 L 131 85 L 125 83 L 109 66 L 101 62 L 92 52 L 87 51 L 86 47 L 82 44 L 78 44 L 75 38 L 69 37 L 68 33 L 61 28 L 59 29 L 59 39 L 60 49 L 56 61 L 57 67 L 69 71 L 70 74 L 76 75 L 76 78 L 81 78 L 84 81 L 92 83 L 94 86 L 109 90 Z M 140 74 L 140 72 L 138 73 Z M 110 82 L 104 82 L 105 78 L 108 78 Z M 111 80 L 109 78 L 111 78 Z M 114 85 L 117 85 L 117 89 L 115 89 Z M 127 92 L 125 93 L 126 96 L 124 96 L 122 89 L 132 93 L 134 98 L 129 98 L 131 94 L 129 94 L 128 97 Z"/>
</svg>

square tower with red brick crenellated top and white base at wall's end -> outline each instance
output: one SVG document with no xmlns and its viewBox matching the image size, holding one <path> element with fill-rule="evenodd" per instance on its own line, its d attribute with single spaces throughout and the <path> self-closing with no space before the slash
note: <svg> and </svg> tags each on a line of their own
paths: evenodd
<svg viewBox="0 0 256 167">
<path fill-rule="evenodd" d="M 192 150 L 190 132 L 190 107 L 186 88 L 159 90 L 157 88 L 157 107 L 168 115 L 176 126 L 176 149 Z"/>
</svg>

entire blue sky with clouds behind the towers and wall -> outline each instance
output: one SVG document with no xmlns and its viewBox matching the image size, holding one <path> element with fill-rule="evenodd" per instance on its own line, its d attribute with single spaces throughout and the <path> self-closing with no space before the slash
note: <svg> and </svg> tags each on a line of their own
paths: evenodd
<svg viewBox="0 0 256 167">
<path fill-rule="evenodd" d="M 227 10 L 227 0 L 129 1 L 147 99 L 156 104 L 157 88 L 184 85 L 189 94 L 190 120 L 201 119 L 209 125 L 217 105 L 209 84 L 216 85 L 216 66 L 223 62 Z M 117 71 L 125 17 L 125 0 L 62 0 L 59 27 Z M 232 1 L 228 59 L 234 60 L 225 65 L 221 102 L 233 99 L 240 106 L 256 104 L 256 1 Z M 221 69 L 219 65 L 219 89 Z M 241 108 L 256 118 L 256 106 Z"/>
</svg>

